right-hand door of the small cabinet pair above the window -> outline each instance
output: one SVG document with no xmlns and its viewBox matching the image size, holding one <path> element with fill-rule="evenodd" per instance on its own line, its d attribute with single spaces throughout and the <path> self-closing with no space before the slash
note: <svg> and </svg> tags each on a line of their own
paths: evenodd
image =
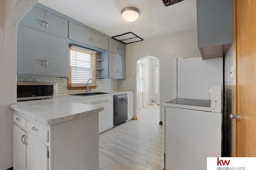
<svg viewBox="0 0 256 170">
<path fill-rule="evenodd" d="M 92 32 L 92 46 L 108 51 L 108 38 L 98 33 Z"/>
</svg>

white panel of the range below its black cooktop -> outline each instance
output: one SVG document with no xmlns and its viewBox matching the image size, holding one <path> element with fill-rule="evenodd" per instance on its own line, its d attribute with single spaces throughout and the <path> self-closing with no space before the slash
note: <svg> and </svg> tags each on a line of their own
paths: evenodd
<svg viewBox="0 0 256 170">
<path fill-rule="evenodd" d="M 206 170 L 221 156 L 221 113 L 165 107 L 165 169 Z"/>
</svg>

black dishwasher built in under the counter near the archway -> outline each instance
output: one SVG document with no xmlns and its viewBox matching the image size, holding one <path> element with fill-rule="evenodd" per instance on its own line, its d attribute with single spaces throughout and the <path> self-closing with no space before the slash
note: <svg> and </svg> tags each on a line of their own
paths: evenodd
<svg viewBox="0 0 256 170">
<path fill-rule="evenodd" d="M 128 96 L 127 94 L 114 95 L 114 126 L 128 119 Z"/>
</svg>

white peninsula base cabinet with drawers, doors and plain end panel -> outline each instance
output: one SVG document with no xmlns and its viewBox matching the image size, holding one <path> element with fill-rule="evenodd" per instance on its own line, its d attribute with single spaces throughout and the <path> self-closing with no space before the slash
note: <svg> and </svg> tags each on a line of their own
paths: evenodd
<svg viewBox="0 0 256 170">
<path fill-rule="evenodd" d="M 46 125 L 14 111 L 13 126 L 14 170 L 99 168 L 98 113 Z"/>
</svg>

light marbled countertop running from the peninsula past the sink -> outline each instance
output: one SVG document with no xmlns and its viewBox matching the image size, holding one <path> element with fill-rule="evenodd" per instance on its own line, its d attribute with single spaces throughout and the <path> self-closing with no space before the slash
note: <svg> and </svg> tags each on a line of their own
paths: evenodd
<svg viewBox="0 0 256 170">
<path fill-rule="evenodd" d="M 80 104 L 72 102 L 72 100 L 97 98 L 102 95 L 116 95 L 124 94 L 127 92 L 132 91 L 109 91 L 106 93 L 110 94 L 85 97 L 62 95 L 53 99 L 17 102 L 17 104 L 10 104 L 10 108 L 32 119 L 35 119 L 36 121 L 50 125 L 90 114 L 95 114 L 104 110 L 104 107 Z"/>
</svg>

